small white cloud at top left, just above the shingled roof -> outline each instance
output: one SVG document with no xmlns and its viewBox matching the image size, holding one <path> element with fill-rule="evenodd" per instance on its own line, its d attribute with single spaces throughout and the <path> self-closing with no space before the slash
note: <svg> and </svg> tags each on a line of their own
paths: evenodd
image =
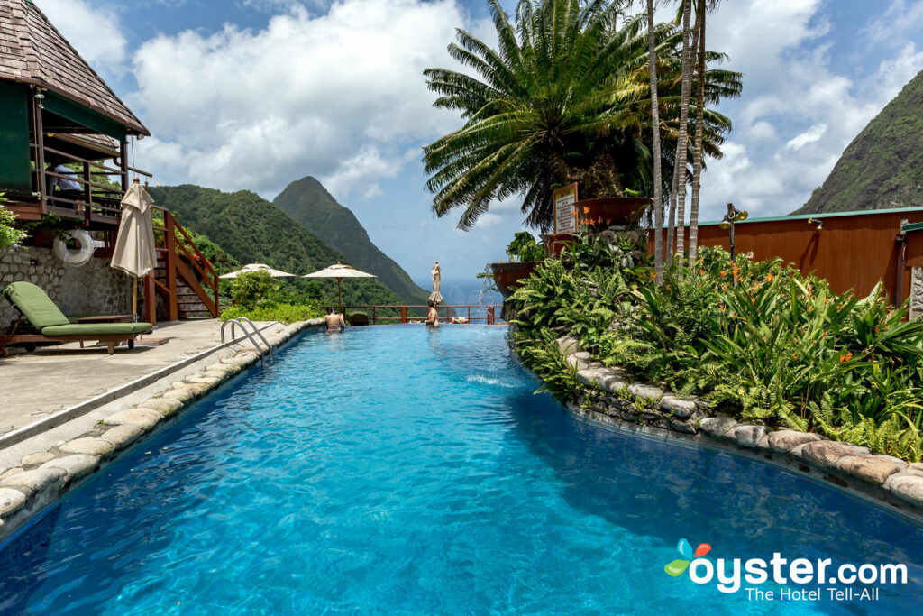
<svg viewBox="0 0 923 616">
<path fill-rule="evenodd" d="M 90 66 L 110 75 L 121 69 L 127 42 L 114 13 L 86 0 L 37 0 L 36 4 Z"/>
</svg>

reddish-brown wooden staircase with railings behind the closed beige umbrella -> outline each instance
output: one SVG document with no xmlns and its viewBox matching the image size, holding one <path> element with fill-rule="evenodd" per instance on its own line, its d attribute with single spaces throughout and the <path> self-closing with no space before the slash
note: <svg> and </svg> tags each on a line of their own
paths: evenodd
<svg viewBox="0 0 923 616">
<path fill-rule="evenodd" d="M 166 302 L 167 320 L 179 319 L 178 280 L 180 278 L 196 293 L 210 315 L 217 317 L 219 313 L 218 273 L 215 272 L 211 261 L 205 258 L 196 243 L 186 233 L 186 229 L 176 222 L 169 210 L 156 205 L 154 210 L 161 211 L 163 216 L 163 225 L 154 225 L 154 230 L 162 232 L 163 235 L 162 241 L 157 242 L 158 258 L 163 261 L 163 274 L 147 278 L 148 313 L 146 319 L 149 322 L 156 320 L 155 292 L 160 293 Z M 186 240 L 186 244 L 177 239 L 177 234 Z M 186 259 L 182 259 L 183 257 Z"/>
</svg>

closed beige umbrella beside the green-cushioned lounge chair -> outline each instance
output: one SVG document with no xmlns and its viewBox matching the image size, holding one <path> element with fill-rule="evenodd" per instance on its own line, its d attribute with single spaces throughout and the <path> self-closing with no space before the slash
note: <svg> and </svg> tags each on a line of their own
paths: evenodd
<svg viewBox="0 0 923 616">
<path fill-rule="evenodd" d="M 147 276 L 157 267 L 154 223 L 150 220 L 153 205 L 154 199 L 136 177 L 122 199 L 122 221 L 110 263 L 115 269 L 134 276 L 131 285 L 132 314 L 138 313 L 138 278 Z"/>
</svg>

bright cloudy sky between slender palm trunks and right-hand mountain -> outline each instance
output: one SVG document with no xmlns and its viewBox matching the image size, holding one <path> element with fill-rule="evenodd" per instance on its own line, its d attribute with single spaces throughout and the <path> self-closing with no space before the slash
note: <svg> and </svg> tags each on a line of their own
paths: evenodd
<svg viewBox="0 0 923 616">
<path fill-rule="evenodd" d="M 725 159 L 710 161 L 702 175 L 701 220 L 720 218 L 729 201 L 760 216 L 803 205 L 846 145 L 923 67 L 923 54 L 906 42 L 858 79 L 855 66 L 834 61 L 831 50 L 833 36 L 842 41 L 854 32 L 832 30 L 824 8 L 821 0 L 751 0 L 722 3 L 713 14 L 708 45 L 729 54 L 726 67 L 744 74 L 744 89 L 722 104 L 734 131 Z"/>
</svg>

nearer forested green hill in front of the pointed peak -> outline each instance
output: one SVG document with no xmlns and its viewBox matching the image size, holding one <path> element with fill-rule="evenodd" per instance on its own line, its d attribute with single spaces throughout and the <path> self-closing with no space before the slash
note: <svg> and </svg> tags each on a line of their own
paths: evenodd
<svg viewBox="0 0 923 616">
<path fill-rule="evenodd" d="M 192 185 L 151 187 L 150 196 L 176 220 L 208 236 L 241 263 L 267 263 L 294 274 L 323 269 L 337 261 L 352 263 L 295 223 L 284 211 L 247 190 L 225 193 Z M 307 284 L 297 281 L 296 285 Z M 318 280 L 325 296 L 336 299 L 335 280 Z M 343 304 L 394 305 L 400 298 L 376 279 L 343 281 Z"/>
</svg>

